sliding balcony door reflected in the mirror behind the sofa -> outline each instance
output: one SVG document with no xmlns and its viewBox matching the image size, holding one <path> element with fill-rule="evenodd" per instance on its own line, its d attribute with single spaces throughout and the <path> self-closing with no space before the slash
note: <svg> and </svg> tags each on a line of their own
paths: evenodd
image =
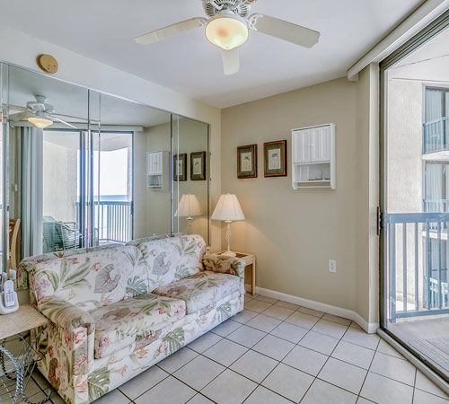
<svg viewBox="0 0 449 404">
<path fill-rule="evenodd" d="M 132 138 L 44 131 L 43 252 L 131 240 Z"/>
</svg>

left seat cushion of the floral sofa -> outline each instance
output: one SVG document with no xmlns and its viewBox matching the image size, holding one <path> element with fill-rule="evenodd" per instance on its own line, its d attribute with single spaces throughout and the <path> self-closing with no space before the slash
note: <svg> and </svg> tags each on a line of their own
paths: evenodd
<svg viewBox="0 0 449 404">
<path fill-rule="evenodd" d="M 160 337 L 162 329 L 186 314 L 182 300 L 141 294 L 90 311 L 95 323 L 95 358 L 105 357 L 134 342 L 140 346 Z"/>
</svg>

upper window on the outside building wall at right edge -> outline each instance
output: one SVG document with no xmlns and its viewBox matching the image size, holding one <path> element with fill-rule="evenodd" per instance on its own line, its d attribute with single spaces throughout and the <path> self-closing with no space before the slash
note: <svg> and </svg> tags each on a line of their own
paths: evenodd
<svg viewBox="0 0 449 404">
<path fill-rule="evenodd" d="M 449 89 L 426 88 L 424 153 L 449 149 Z"/>
</svg>

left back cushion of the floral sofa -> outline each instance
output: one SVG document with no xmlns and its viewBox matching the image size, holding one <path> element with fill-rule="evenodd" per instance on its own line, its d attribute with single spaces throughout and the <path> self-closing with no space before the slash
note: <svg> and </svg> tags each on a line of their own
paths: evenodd
<svg viewBox="0 0 449 404">
<path fill-rule="evenodd" d="M 147 269 L 136 247 L 117 247 L 36 264 L 31 273 L 37 302 L 55 296 L 91 310 L 148 293 Z"/>
</svg>

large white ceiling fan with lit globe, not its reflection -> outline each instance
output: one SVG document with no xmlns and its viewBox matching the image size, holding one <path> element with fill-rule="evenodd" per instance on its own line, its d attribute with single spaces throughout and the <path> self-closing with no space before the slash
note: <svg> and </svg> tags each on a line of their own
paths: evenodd
<svg viewBox="0 0 449 404">
<path fill-rule="evenodd" d="M 184 31 L 206 26 L 206 38 L 222 49 L 225 75 L 240 69 L 239 47 L 248 40 L 248 31 L 259 31 L 279 40 L 312 48 L 320 39 L 320 32 L 301 25 L 279 20 L 269 15 L 251 14 L 257 0 L 201 0 L 207 17 L 195 17 L 136 38 L 144 45 L 165 40 Z"/>
</svg>

